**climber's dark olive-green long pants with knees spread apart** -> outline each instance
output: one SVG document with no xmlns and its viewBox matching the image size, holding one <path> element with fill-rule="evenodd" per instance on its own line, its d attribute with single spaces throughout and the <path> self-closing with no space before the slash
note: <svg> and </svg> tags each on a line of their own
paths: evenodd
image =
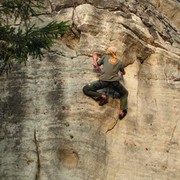
<svg viewBox="0 0 180 180">
<path fill-rule="evenodd" d="M 119 81 L 112 81 L 112 82 L 102 81 L 102 80 L 94 81 L 94 82 L 84 86 L 83 92 L 87 96 L 90 96 L 94 100 L 98 101 L 101 98 L 102 93 L 97 92 L 97 90 L 103 89 L 106 87 L 112 88 L 117 93 L 119 93 L 120 108 L 122 110 L 128 109 L 128 102 L 127 102 L 128 91 Z"/>
</svg>

